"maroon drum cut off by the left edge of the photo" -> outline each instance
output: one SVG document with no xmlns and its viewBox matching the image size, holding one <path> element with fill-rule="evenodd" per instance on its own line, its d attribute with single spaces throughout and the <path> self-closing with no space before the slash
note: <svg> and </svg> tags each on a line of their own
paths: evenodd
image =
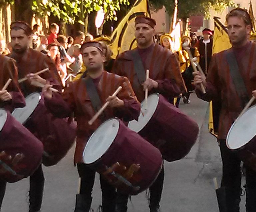
<svg viewBox="0 0 256 212">
<path fill-rule="evenodd" d="M 33 174 L 42 161 L 42 143 L 3 109 L 0 131 L 0 179 L 16 182 Z"/>
</svg>

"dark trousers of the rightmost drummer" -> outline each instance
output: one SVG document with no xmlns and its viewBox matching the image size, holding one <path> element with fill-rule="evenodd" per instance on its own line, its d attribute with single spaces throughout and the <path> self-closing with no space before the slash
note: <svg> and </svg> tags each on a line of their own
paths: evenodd
<svg viewBox="0 0 256 212">
<path fill-rule="evenodd" d="M 239 211 L 241 195 L 241 159 L 226 146 L 224 139 L 219 140 L 222 158 L 221 186 L 226 190 L 228 212 Z M 246 211 L 256 211 L 256 171 L 246 167 Z"/>
</svg>

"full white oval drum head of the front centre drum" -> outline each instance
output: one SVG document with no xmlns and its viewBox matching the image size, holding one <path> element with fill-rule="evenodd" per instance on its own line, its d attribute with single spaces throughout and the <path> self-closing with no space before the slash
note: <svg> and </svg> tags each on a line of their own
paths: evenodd
<svg viewBox="0 0 256 212">
<path fill-rule="evenodd" d="M 89 138 L 83 153 L 86 164 L 97 161 L 108 150 L 119 130 L 119 120 L 109 119 L 101 124 Z"/>
</svg>

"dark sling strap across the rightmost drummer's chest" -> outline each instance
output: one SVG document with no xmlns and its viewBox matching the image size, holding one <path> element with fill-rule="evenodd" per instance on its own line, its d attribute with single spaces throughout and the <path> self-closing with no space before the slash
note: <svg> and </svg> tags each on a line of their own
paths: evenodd
<svg viewBox="0 0 256 212">
<path fill-rule="evenodd" d="M 232 81 L 234 83 L 236 92 L 238 93 L 238 96 L 239 96 L 239 99 L 240 99 L 240 102 L 241 102 L 241 106 L 242 106 L 242 108 L 244 108 L 245 105 L 247 104 L 247 102 L 249 101 L 249 96 L 248 96 L 248 92 L 247 92 L 247 89 L 245 87 L 243 78 L 242 78 L 241 73 L 239 71 L 239 66 L 237 64 L 235 54 L 234 54 L 232 49 L 230 49 L 227 52 L 226 58 L 227 58 L 227 61 L 228 61 L 230 76 L 231 76 Z"/>
</svg>

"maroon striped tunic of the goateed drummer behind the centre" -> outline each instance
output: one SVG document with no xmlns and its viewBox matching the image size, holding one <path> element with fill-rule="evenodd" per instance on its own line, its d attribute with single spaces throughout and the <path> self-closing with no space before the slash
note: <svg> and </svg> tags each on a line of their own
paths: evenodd
<svg viewBox="0 0 256 212">
<path fill-rule="evenodd" d="M 176 97 L 185 91 L 183 79 L 180 73 L 180 64 L 171 51 L 157 44 L 152 44 L 147 49 L 139 49 L 142 63 L 149 70 L 149 78 L 158 82 L 159 87 L 152 89 L 150 93 L 160 93 L 166 98 Z M 140 102 L 144 100 L 145 92 L 138 81 L 134 70 L 132 50 L 120 54 L 112 68 L 112 72 L 127 77 Z"/>
</svg>

